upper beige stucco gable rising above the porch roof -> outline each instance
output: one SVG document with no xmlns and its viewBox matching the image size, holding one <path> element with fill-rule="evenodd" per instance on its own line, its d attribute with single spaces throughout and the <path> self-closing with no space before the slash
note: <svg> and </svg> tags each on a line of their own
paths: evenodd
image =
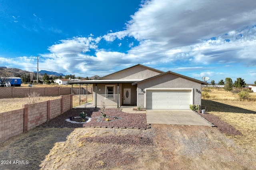
<svg viewBox="0 0 256 170">
<path fill-rule="evenodd" d="M 114 74 L 110 74 L 106 77 L 101 78 L 101 80 L 131 80 L 131 79 L 146 79 L 152 76 L 156 76 L 162 72 L 158 72 L 156 70 L 151 70 L 144 66 L 134 66 L 132 68 L 128 68 Z"/>
</svg>

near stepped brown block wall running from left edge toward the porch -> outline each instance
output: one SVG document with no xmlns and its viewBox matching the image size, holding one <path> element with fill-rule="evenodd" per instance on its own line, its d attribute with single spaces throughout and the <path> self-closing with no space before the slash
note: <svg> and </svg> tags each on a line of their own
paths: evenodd
<svg viewBox="0 0 256 170">
<path fill-rule="evenodd" d="M 24 104 L 22 109 L 0 113 L 0 142 L 26 132 L 72 109 L 72 95 L 34 104 Z"/>
</svg>

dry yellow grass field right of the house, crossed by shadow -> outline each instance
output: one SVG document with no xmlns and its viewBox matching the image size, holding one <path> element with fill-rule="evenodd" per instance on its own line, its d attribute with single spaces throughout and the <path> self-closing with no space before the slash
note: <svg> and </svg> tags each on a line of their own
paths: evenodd
<svg viewBox="0 0 256 170">
<path fill-rule="evenodd" d="M 202 108 L 207 113 L 217 115 L 226 123 L 238 129 L 243 136 L 228 136 L 244 148 L 256 150 L 256 93 L 250 99 L 240 101 L 237 94 L 225 92 L 222 88 L 204 89 L 210 97 L 202 100 Z"/>
</svg>

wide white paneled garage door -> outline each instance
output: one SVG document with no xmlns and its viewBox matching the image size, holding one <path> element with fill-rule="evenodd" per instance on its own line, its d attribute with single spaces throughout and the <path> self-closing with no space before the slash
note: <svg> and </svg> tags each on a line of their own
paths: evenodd
<svg viewBox="0 0 256 170">
<path fill-rule="evenodd" d="M 146 109 L 190 109 L 191 90 L 147 90 Z"/>
</svg>

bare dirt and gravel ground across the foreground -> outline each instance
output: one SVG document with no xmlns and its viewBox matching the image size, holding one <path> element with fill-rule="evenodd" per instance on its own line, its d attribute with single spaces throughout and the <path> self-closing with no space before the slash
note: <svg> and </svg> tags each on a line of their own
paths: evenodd
<svg viewBox="0 0 256 170">
<path fill-rule="evenodd" d="M 127 138 L 119 143 L 108 142 L 124 136 L 152 140 L 140 143 Z M 255 150 L 239 147 L 214 127 L 36 127 L 0 144 L 1 161 L 10 163 L 0 162 L 0 169 L 249 170 L 256 169 L 255 155 Z M 14 164 L 16 160 L 20 164 Z"/>
</svg>

